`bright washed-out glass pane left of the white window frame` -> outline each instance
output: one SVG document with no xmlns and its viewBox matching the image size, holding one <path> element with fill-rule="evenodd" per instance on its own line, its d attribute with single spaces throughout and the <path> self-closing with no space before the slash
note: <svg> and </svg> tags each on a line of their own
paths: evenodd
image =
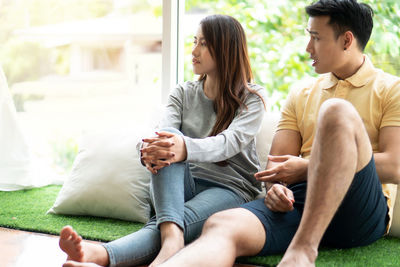
<svg viewBox="0 0 400 267">
<path fill-rule="evenodd" d="M 161 103 L 162 0 L 0 2 L 0 60 L 35 156 L 70 170 L 83 134 Z"/>
</svg>

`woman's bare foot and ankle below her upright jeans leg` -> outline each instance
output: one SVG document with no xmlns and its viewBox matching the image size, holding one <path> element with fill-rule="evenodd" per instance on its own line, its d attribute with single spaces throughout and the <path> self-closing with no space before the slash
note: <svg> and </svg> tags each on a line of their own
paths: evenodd
<svg viewBox="0 0 400 267">
<path fill-rule="evenodd" d="M 157 257 L 149 265 L 155 267 L 164 261 L 168 260 L 175 253 L 181 250 L 185 241 L 183 238 L 183 231 L 179 226 L 172 222 L 165 222 L 160 225 L 161 231 L 161 250 Z"/>
</svg>

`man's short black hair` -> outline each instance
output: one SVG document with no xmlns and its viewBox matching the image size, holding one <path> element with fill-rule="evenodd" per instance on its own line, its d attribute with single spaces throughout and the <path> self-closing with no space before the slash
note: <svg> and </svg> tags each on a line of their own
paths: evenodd
<svg viewBox="0 0 400 267">
<path fill-rule="evenodd" d="M 351 31 L 364 51 L 374 26 L 374 12 L 369 5 L 356 0 L 319 0 L 307 6 L 306 12 L 310 17 L 329 16 L 336 38 Z"/>
</svg>

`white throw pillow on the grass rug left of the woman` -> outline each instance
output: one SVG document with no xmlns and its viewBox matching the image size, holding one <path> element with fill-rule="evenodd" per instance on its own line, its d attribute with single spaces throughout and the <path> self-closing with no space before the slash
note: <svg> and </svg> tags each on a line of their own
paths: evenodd
<svg viewBox="0 0 400 267">
<path fill-rule="evenodd" d="M 139 140 L 132 131 L 86 136 L 48 213 L 148 221 L 150 172 L 140 163 Z"/>
</svg>

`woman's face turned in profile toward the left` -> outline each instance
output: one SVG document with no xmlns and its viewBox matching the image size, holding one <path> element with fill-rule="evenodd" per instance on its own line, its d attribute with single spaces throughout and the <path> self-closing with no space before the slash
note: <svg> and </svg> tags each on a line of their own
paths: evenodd
<svg viewBox="0 0 400 267">
<path fill-rule="evenodd" d="M 192 49 L 192 65 L 195 74 L 213 75 L 216 72 L 216 64 L 212 58 L 206 40 L 203 36 L 201 25 L 194 36 Z"/>
</svg>

